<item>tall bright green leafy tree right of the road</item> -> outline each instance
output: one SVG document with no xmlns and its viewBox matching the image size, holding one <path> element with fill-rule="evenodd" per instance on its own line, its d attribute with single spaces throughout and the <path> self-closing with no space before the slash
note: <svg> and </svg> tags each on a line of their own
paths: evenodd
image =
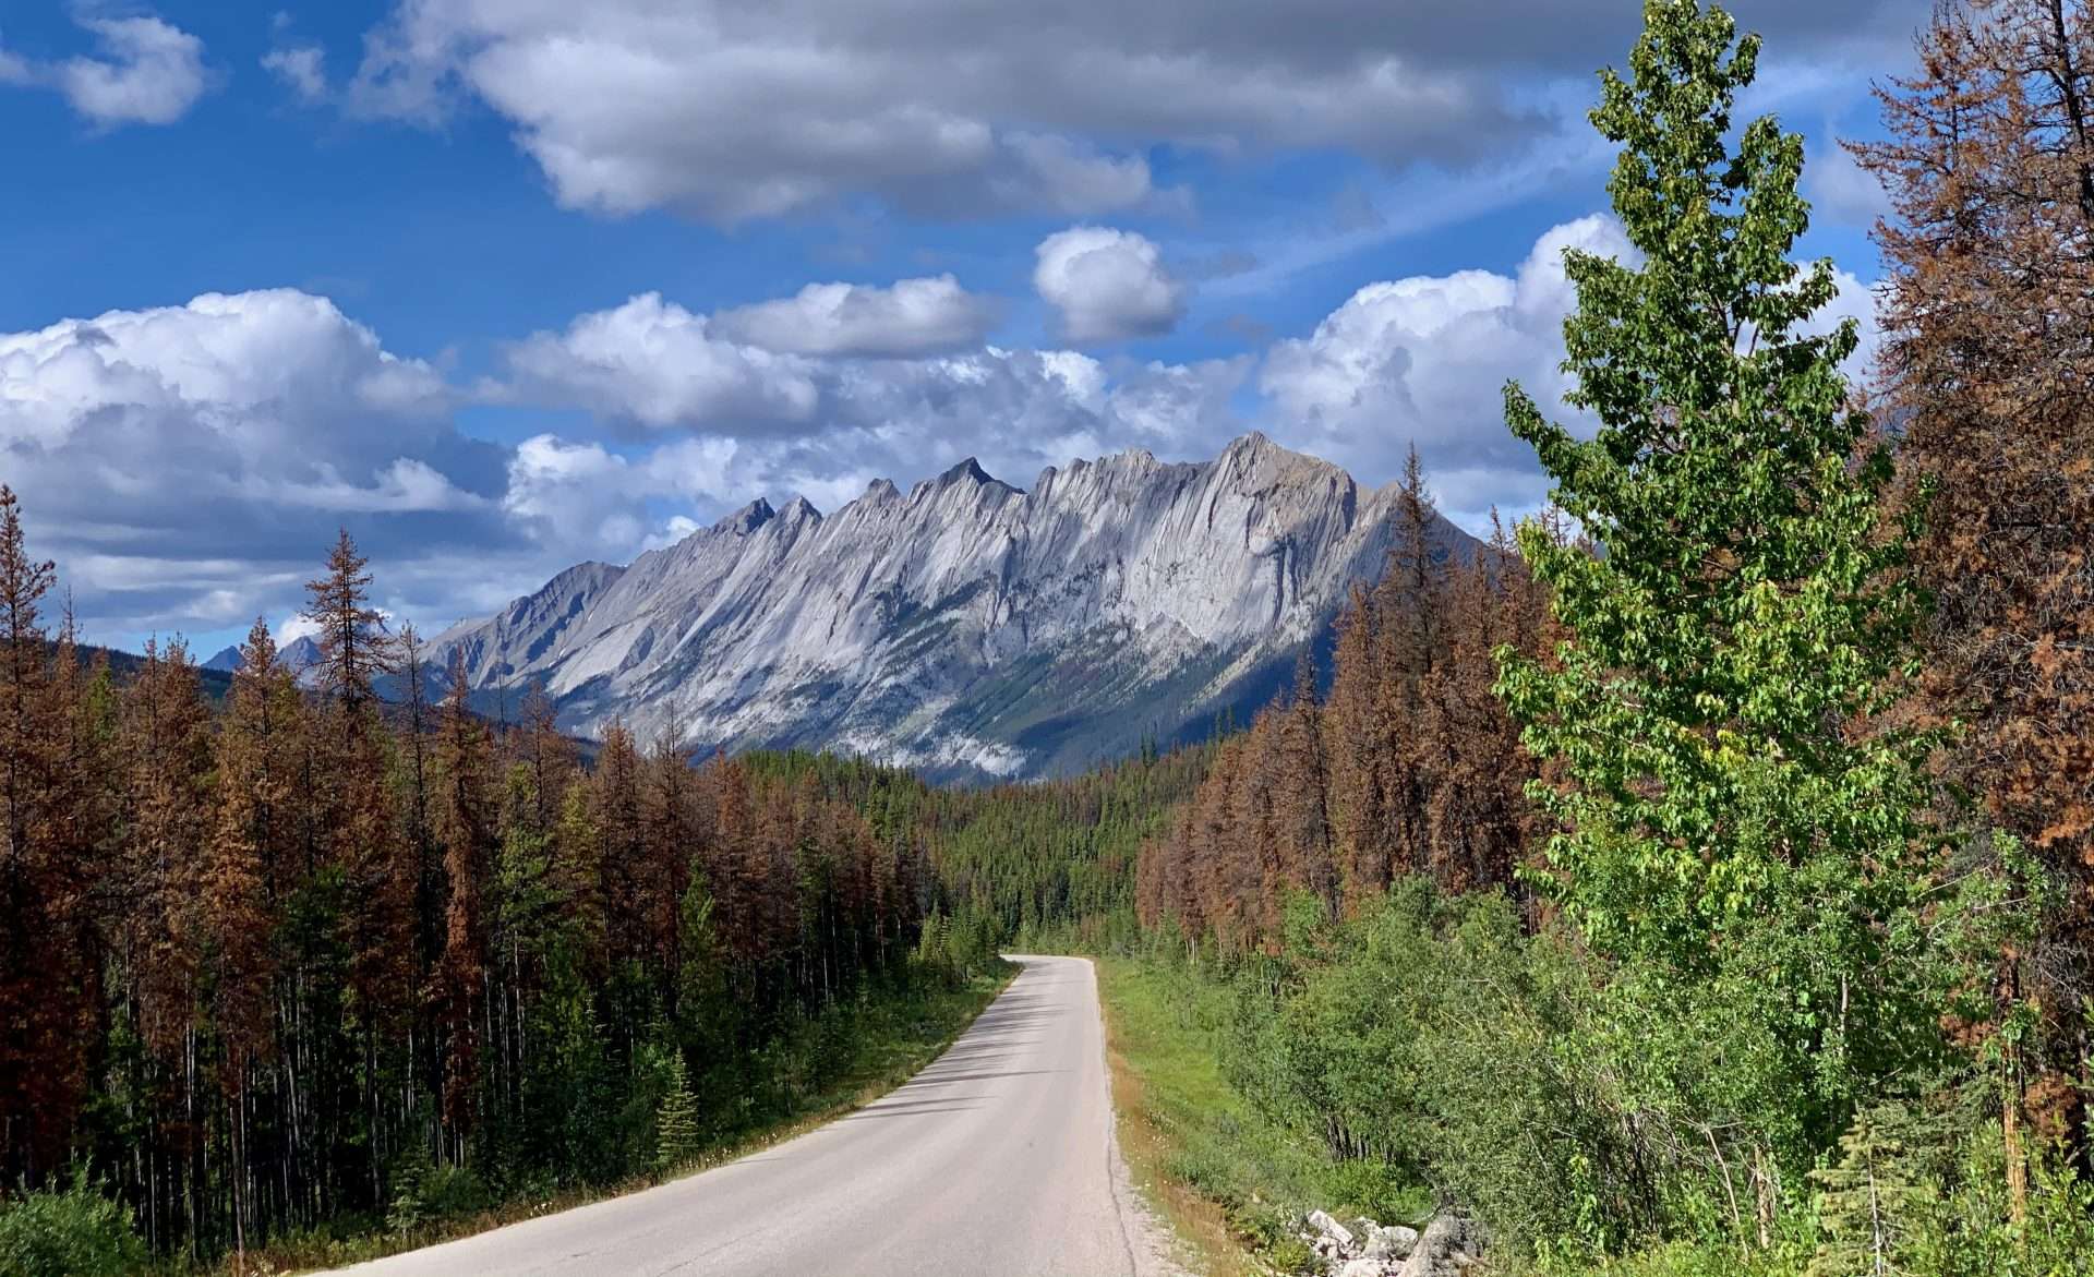
<svg viewBox="0 0 2094 1277">
<path fill-rule="evenodd" d="M 1734 1141 L 1723 1197 L 1765 1237 L 1855 1103 L 1937 1040 L 1914 953 L 1937 741 L 1885 724 L 1920 599 L 1841 373 L 1855 322 L 1813 322 L 1832 264 L 1792 262 L 1803 140 L 1734 132 L 1759 40 L 1728 13 L 1644 17 L 1591 113 L 1635 251 L 1566 253 L 1568 402 L 1598 431 L 1506 389 L 1598 553 L 1522 530 L 1568 638 L 1501 649 L 1499 693 L 1560 768 L 1535 785 L 1560 823 L 1545 888 L 1619 963 L 1627 1103 L 1688 1147 Z"/>
</svg>

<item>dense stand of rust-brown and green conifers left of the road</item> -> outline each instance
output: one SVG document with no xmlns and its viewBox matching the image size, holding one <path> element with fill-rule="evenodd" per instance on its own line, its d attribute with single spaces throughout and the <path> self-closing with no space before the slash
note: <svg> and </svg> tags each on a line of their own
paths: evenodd
<svg viewBox="0 0 2094 1277">
<path fill-rule="evenodd" d="M 917 969 L 913 825 L 618 726 L 584 768 L 542 699 L 488 724 L 456 670 L 423 703 L 348 536 L 310 586 L 318 687 L 258 624 L 218 712 L 180 643 L 117 678 L 52 638 L 52 576 L 0 490 L 13 1189 L 77 1164 L 209 1256 L 611 1183 L 792 1112 L 831 1009 Z M 926 957 L 984 957 L 953 940 Z"/>
</svg>

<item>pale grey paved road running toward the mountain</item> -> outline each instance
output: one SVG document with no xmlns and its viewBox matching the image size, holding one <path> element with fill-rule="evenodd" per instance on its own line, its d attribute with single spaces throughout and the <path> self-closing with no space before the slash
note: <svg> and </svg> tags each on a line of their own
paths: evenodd
<svg viewBox="0 0 2094 1277">
<path fill-rule="evenodd" d="M 358 1264 L 373 1277 L 1150 1277 L 1083 959 L 1024 971 L 930 1068 L 800 1139 L 645 1193 Z"/>
</svg>

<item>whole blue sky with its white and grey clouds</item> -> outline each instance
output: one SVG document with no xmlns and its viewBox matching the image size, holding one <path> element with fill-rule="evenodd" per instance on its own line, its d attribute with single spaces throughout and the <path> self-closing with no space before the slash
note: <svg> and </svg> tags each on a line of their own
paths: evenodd
<svg viewBox="0 0 2094 1277">
<path fill-rule="evenodd" d="M 1920 0 L 1740 0 L 1868 312 Z M 741 502 L 1244 429 L 1531 509 L 1629 0 L 0 10 L 0 481 L 94 638 L 287 622 L 348 525 L 440 628 Z"/>
</svg>

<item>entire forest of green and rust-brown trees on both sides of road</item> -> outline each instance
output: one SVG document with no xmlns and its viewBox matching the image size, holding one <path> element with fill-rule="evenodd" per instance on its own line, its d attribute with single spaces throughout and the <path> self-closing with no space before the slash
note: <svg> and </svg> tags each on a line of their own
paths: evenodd
<svg viewBox="0 0 2094 1277">
<path fill-rule="evenodd" d="M 1920 54 L 1857 383 L 1757 38 L 1650 0 L 1591 113 L 1633 253 L 1566 257 L 1570 412 L 1503 387 L 1550 509 L 1449 555 L 1413 454 L 1286 695 L 1078 777 L 584 760 L 425 680 L 348 534 L 314 672 L 119 676 L 0 492 L 0 1258 L 616 1185 L 1049 948 L 1171 990 L 1250 1116 L 1160 1170 L 1273 1269 L 1321 1206 L 1506 1273 L 2088 1273 L 2094 10 Z"/>
</svg>

